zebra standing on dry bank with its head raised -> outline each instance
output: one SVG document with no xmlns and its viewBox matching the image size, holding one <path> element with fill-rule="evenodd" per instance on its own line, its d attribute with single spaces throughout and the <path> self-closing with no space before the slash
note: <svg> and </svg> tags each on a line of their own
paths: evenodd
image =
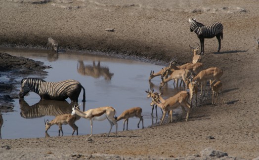
<svg viewBox="0 0 259 160">
<path fill-rule="evenodd" d="M 218 41 L 219 52 L 221 47 L 221 40 L 223 40 L 223 25 L 219 22 L 215 22 L 210 26 L 205 26 L 202 23 L 197 22 L 195 19 L 189 19 L 190 22 L 190 31 L 195 32 L 201 42 L 201 53 L 204 55 L 204 39 L 211 39 L 216 36 Z M 220 39 L 221 38 L 221 39 Z"/>
</svg>

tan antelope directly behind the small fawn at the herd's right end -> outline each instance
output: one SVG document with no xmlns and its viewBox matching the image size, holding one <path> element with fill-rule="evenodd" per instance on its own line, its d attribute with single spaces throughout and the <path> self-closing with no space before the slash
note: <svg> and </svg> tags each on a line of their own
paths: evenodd
<svg viewBox="0 0 259 160">
<path fill-rule="evenodd" d="M 204 88 L 204 95 L 206 90 L 206 84 L 207 81 L 211 78 L 214 78 L 214 80 L 220 81 L 219 78 L 223 75 L 223 71 L 217 67 L 211 67 L 206 70 L 201 71 L 197 76 L 193 78 L 194 81 L 197 80 L 197 82 L 201 83 L 201 94 Z"/>
</svg>

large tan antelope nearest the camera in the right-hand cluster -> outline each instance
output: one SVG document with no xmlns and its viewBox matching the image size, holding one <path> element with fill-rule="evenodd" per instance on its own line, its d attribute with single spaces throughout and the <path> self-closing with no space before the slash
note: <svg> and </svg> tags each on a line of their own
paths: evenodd
<svg viewBox="0 0 259 160">
<path fill-rule="evenodd" d="M 161 94 L 159 96 L 161 96 Z M 172 112 L 170 112 L 171 115 L 169 115 L 169 117 L 171 117 L 171 122 L 173 122 L 173 119 L 172 119 L 173 110 L 178 108 L 179 106 L 181 106 L 181 108 L 182 108 L 181 116 L 183 116 L 185 114 L 184 107 L 187 109 L 187 115 L 186 115 L 186 119 L 185 119 L 187 121 L 189 114 L 191 112 L 191 106 L 188 103 L 189 97 L 190 97 L 190 93 L 187 91 L 180 91 L 179 93 L 175 94 L 173 97 L 166 99 L 164 102 L 159 102 L 158 96 L 152 97 L 152 102 L 150 105 L 156 104 L 158 107 L 160 107 L 163 110 L 163 118 L 160 122 L 160 125 L 165 120 L 166 114 L 169 111 L 172 111 Z"/>
</svg>

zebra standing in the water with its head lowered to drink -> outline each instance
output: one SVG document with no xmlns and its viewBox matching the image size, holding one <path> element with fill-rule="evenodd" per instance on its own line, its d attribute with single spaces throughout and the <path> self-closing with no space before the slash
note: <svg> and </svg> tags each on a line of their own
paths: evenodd
<svg viewBox="0 0 259 160">
<path fill-rule="evenodd" d="M 65 99 L 70 98 L 72 102 L 78 102 L 78 97 L 82 88 L 84 90 L 82 101 L 85 102 L 85 88 L 76 80 L 47 82 L 41 79 L 25 78 L 21 80 L 19 97 L 23 98 L 31 90 L 39 94 L 41 99 L 64 101 Z"/>
</svg>

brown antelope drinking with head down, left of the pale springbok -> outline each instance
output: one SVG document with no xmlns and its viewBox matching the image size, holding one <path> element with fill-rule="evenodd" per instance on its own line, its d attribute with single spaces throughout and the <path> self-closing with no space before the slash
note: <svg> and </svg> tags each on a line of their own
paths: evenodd
<svg viewBox="0 0 259 160">
<path fill-rule="evenodd" d="M 50 122 L 48 122 L 48 120 L 46 120 L 46 121 L 44 120 L 45 132 L 47 132 L 47 130 L 51 127 L 51 125 L 56 124 L 59 126 L 58 136 L 60 136 L 60 131 L 62 132 L 62 136 L 63 136 L 62 124 L 68 124 L 73 128 L 72 135 L 74 135 L 76 130 L 77 130 L 77 135 L 78 135 L 78 126 L 75 124 L 75 122 L 77 120 L 79 120 L 80 118 L 81 117 L 79 117 L 77 115 L 64 114 L 64 115 L 56 116 L 56 118 L 51 120 Z"/>
</svg>

